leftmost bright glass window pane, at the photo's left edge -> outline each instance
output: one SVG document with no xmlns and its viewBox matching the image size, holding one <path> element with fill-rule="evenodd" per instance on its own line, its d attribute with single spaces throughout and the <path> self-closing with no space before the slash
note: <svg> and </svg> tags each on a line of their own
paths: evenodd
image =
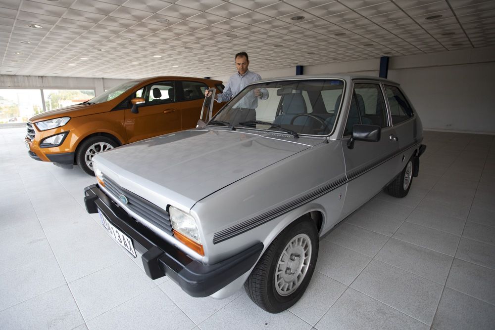
<svg viewBox="0 0 495 330">
<path fill-rule="evenodd" d="M 0 89 L 0 123 L 25 123 L 42 112 L 40 89 Z"/>
</svg>

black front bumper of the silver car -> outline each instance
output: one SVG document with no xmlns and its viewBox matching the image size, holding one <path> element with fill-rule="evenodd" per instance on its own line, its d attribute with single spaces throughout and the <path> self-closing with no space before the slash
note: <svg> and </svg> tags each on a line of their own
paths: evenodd
<svg viewBox="0 0 495 330">
<path fill-rule="evenodd" d="M 120 231 L 133 240 L 134 248 L 143 253 L 146 274 L 152 279 L 168 276 L 193 297 L 206 297 L 246 273 L 258 260 L 263 244 L 252 247 L 212 265 L 203 265 L 157 236 L 115 205 L 98 185 L 84 189 L 88 213 L 98 209 Z"/>
</svg>

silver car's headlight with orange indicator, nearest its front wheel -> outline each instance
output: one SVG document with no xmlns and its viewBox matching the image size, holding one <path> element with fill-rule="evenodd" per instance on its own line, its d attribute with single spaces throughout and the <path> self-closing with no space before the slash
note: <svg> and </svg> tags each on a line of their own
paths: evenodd
<svg viewBox="0 0 495 330">
<path fill-rule="evenodd" d="M 183 212 L 174 206 L 170 206 L 169 212 L 175 238 L 188 248 L 198 252 L 199 255 L 204 255 L 198 227 L 191 214 Z"/>
</svg>

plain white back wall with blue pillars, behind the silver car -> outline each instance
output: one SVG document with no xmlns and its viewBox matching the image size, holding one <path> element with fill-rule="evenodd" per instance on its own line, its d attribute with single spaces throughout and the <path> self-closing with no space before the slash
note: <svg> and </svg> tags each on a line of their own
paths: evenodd
<svg viewBox="0 0 495 330">
<path fill-rule="evenodd" d="M 256 56 L 252 54 L 252 56 Z M 256 71 L 293 76 L 296 68 Z M 305 75 L 379 75 L 380 59 L 311 65 Z M 235 68 L 233 66 L 233 73 Z M 495 134 L 495 47 L 391 57 L 388 78 L 401 84 L 425 129 Z M 227 82 L 228 76 L 211 77 Z"/>
</svg>

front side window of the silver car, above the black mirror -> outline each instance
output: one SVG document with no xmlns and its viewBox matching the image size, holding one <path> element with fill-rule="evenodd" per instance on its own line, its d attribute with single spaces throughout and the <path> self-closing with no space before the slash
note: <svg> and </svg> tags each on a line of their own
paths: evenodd
<svg viewBox="0 0 495 330">
<path fill-rule="evenodd" d="M 350 135 L 355 124 L 387 126 L 387 110 L 379 84 L 354 85 L 344 135 Z"/>
</svg>

